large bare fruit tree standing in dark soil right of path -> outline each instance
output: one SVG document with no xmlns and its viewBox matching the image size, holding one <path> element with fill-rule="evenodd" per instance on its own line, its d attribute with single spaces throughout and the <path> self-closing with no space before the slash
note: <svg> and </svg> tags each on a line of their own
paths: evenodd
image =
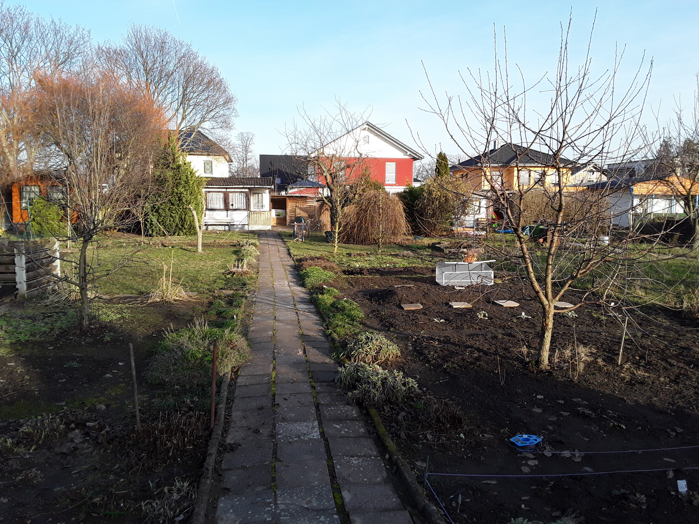
<svg viewBox="0 0 699 524">
<path fill-rule="evenodd" d="M 515 88 L 506 53 L 500 61 L 496 50 L 495 71 L 461 75 L 463 97 L 442 100 L 432 88 L 431 96 L 424 96 L 428 111 L 441 120 L 456 146 L 473 157 L 466 180 L 480 185 L 478 191 L 487 194 L 493 210 L 514 233 L 516 249 L 507 249 L 504 241 L 499 249 L 493 243 L 487 247 L 521 268 L 538 298 L 542 368 L 549 366 L 554 312 L 567 311 L 554 306 L 566 291 L 607 263 L 640 261 L 654 254 L 652 242 L 651 247 L 632 244 L 639 239 L 633 228 L 612 230 L 614 217 L 605 191 L 568 186 L 570 171 L 577 166 L 604 166 L 649 150 L 639 119 L 652 66 L 644 69 L 641 62 L 625 89 L 619 88 L 617 78 L 621 57 L 610 71 L 596 75 L 588 43 L 582 64 L 573 66 L 570 24 L 571 20 L 561 27 L 555 71 L 533 85 L 520 73 L 521 87 Z M 542 93 L 539 98 L 547 100 L 531 108 L 528 98 L 535 88 Z M 499 156 L 498 147 L 491 148 L 495 141 L 510 147 L 507 158 Z M 539 173 L 528 171 L 532 163 L 540 166 Z M 528 233 L 533 225 L 547 232 L 546 243 L 532 242 Z M 596 286 L 605 284 L 610 284 L 608 278 L 598 279 Z"/>
</svg>

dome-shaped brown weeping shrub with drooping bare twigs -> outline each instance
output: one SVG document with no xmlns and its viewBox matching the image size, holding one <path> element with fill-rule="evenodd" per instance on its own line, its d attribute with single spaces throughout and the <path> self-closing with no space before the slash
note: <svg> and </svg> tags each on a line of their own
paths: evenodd
<svg viewBox="0 0 699 524">
<path fill-rule="evenodd" d="M 340 242 L 343 244 L 386 244 L 410 233 L 400 198 L 384 189 L 371 189 L 357 196 L 343 212 Z"/>
</svg>

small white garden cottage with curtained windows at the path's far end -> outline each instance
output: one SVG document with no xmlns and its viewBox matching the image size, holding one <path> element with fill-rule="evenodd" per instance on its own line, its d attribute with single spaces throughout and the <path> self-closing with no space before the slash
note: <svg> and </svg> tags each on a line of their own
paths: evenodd
<svg viewBox="0 0 699 524">
<path fill-rule="evenodd" d="M 207 230 L 260 231 L 272 228 L 269 177 L 212 177 L 204 186 Z"/>
</svg>

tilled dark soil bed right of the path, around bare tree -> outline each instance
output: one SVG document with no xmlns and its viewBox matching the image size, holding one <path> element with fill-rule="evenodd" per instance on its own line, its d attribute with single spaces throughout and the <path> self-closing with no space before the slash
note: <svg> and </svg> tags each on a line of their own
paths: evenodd
<svg viewBox="0 0 699 524">
<path fill-rule="evenodd" d="M 699 445 L 699 323 L 626 310 L 618 365 L 623 313 L 588 297 L 577 317 L 556 314 L 552 370 L 542 372 L 532 363 L 540 307 L 524 280 L 455 290 L 438 286 L 425 268 L 387 268 L 347 271 L 338 288 L 361 305 L 368 328 L 401 345 L 403 356 L 392 367 L 452 400 L 465 416 L 461 428 L 430 431 L 416 423 L 423 406 L 382 410 L 416 471 L 428 463 L 431 485 L 454 522 L 551 522 L 566 514 L 585 523 L 699 522 L 699 470 L 682 469 L 699 467 L 699 448 L 671 449 Z M 573 291 L 564 300 L 577 304 L 582 297 Z M 423 309 L 403 311 L 404 303 Z M 519 453 L 509 438 L 520 433 L 539 435 L 543 446 Z M 625 470 L 658 471 L 591 474 Z M 678 494 L 678 479 L 687 481 L 687 495 Z"/>
</svg>

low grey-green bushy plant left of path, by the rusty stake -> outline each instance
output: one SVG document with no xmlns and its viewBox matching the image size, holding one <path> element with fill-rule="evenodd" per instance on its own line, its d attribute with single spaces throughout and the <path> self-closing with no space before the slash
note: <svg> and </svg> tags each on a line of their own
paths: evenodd
<svg viewBox="0 0 699 524">
<path fill-rule="evenodd" d="M 193 325 L 165 335 L 145 372 L 147 381 L 154 386 L 206 387 L 211 380 L 214 340 L 218 340 L 219 375 L 245 363 L 250 354 L 247 341 L 233 328 L 210 328 L 196 319 Z"/>
</svg>

